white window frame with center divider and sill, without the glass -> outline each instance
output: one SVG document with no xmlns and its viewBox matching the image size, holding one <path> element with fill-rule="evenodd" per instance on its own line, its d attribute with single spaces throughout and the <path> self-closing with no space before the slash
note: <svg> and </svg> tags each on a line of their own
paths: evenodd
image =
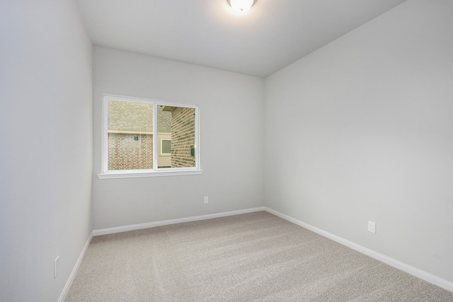
<svg viewBox="0 0 453 302">
<path fill-rule="evenodd" d="M 108 170 L 108 120 L 107 120 L 107 106 L 109 100 L 129 103 L 145 103 L 153 105 L 153 146 L 158 146 L 157 135 L 157 106 L 172 106 L 195 109 L 195 167 L 188 168 L 158 168 L 158 150 L 153 148 L 153 168 L 152 169 L 139 169 L 139 170 Z M 107 95 L 103 94 L 102 102 L 102 172 L 98 174 L 99 179 L 109 178 L 144 178 L 154 176 L 170 176 L 170 175 L 195 175 L 202 174 L 203 170 L 200 168 L 200 127 L 199 127 L 199 111 L 196 105 L 188 105 L 181 103 L 171 103 L 164 100 L 153 100 L 146 98 L 133 98 L 120 95 Z"/>
</svg>

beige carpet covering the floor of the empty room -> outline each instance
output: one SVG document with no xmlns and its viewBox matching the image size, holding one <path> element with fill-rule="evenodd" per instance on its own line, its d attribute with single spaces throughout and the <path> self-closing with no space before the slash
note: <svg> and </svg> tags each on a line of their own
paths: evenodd
<svg viewBox="0 0 453 302">
<path fill-rule="evenodd" d="M 96 236 L 72 301 L 453 301 L 264 211 Z"/>
</svg>

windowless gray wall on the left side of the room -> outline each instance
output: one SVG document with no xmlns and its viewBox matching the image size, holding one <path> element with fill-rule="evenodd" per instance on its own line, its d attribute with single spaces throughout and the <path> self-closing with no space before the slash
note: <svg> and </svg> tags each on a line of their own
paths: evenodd
<svg viewBox="0 0 453 302">
<path fill-rule="evenodd" d="M 75 1 L 0 2 L 0 301 L 57 301 L 90 236 L 91 58 Z"/>
</svg>

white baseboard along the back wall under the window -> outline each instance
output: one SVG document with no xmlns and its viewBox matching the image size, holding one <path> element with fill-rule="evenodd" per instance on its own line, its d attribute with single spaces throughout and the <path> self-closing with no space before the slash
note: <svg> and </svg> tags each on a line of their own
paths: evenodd
<svg viewBox="0 0 453 302">
<path fill-rule="evenodd" d="M 121 233 L 121 232 L 126 232 L 126 231 L 140 230 L 142 228 L 154 228 L 156 226 L 167 226 L 169 224 L 176 224 L 176 223 L 183 223 L 183 222 L 189 222 L 189 221 L 198 221 L 198 220 L 213 219 L 213 218 L 219 218 L 219 217 L 225 217 L 225 216 L 246 214 L 246 213 L 252 213 L 255 211 L 265 211 L 265 207 L 257 207 L 257 208 L 243 209 L 243 210 L 237 210 L 237 211 L 226 211 L 226 212 L 217 213 L 217 214 L 207 214 L 207 215 L 202 215 L 202 216 L 192 216 L 192 217 L 170 219 L 170 220 L 163 220 L 163 221 L 139 223 L 139 224 L 132 224 L 130 226 L 116 226 L 114 228 L 100 228 L 98 230 L 94 230 L 93 234 L 94 234 L 94 236 L 100 236 L 100 235 L 107 235 L 107 234 L 113 234 L 113 233 Z"/>
</svg>

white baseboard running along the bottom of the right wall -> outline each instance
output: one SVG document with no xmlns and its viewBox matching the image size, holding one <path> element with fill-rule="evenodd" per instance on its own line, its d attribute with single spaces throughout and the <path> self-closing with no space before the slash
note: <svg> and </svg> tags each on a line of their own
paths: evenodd
<svg viewBox="0 0 453 302">
<path fill-rule="evenodd" d="M 386 255 L 382 255 L 379 252 L 374 250 L 370 250 L 369 248 L 365 248 L 362 245 L 358 245 L 357 243 L 353 243 L 352 241 L 346 240 L 345 238 L 341 238 L 340 236 L 333 235 L 332 233 L 328 233 L 327 231 L 321 230 L 321 228 L 316 228 L 316 226 L 311 226 L 309 223 L 305 223 L 303 221 L 299 221 L 294 219 L 291 216 L 285 215 L 280 213 L 279 211 L 275 211 L 268 207 L 264 207 L 265 211 L 268 211 L 270 214 L 274 214 L 275 216 L 279 216 L 282 219 L 290 221 L 298 226 L 302 226 L 303 228 L 309 229 L 310 231 L 314 231 L 321 236 L 334 240 L 342 245 L 347 246 L 348 248 L 352 248 L 352 250 L 357 250 L 357 252 L 362 252 L 362 254 L 368 255 L 369 257 L 373 257 L 376 260 L 386 263 L 387 265 L 391 265 L 392 267 L 396 267 L 397 269 L 401 269 L 403 272 L 407 272 L 415 277 L 428 281 L 432 284 L 442 287 L 443 289 L 447 289 L 447 291 L 453 291 L 453 283 L 437 277 L 433 274 L 425 272 L 421 269 L 416 267 L 412 267 L 411 265 L 406 265 L 401 261 L 395 260 L 391 257 Z"/>
</svg>

